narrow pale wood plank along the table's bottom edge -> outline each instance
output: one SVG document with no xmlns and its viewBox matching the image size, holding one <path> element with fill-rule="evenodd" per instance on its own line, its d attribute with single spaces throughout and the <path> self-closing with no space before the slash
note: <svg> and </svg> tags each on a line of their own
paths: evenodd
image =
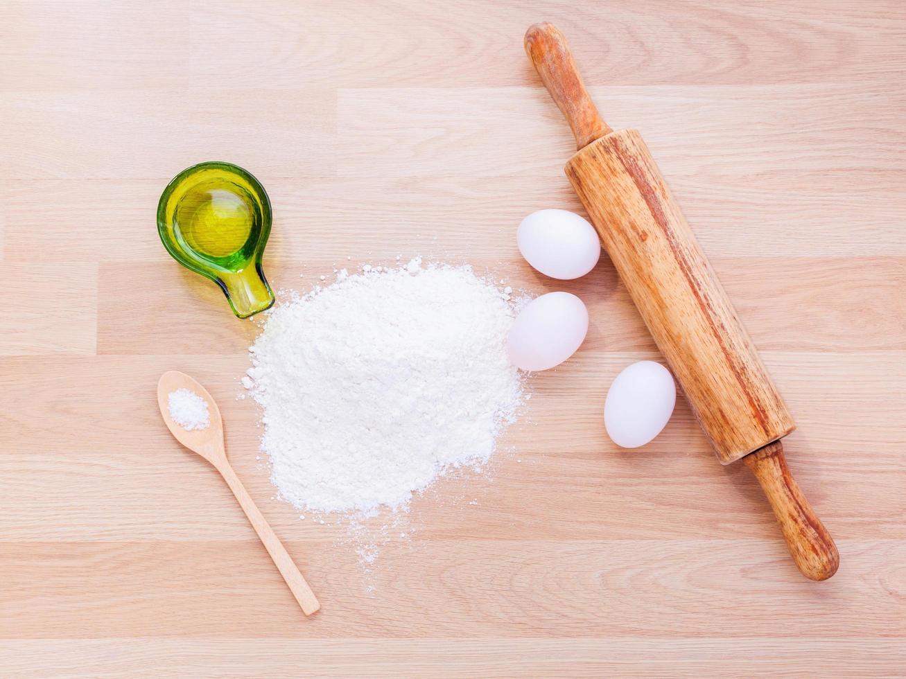
<svg viewBox="0 0 906 679">
<path fill-rule="evenodd" d="M 770 667 L 777 674 L 796 674 L 809 658 L 827 665 L 857 667 L 852 676 L 884 674 L 886 658 L 897 655 L 896 640 L 860 638 L 854 652 L 834 640 L 789 639 L 53 639 L 0 646 L 0 652 L 24 655 L 20 676 L 47 672 L 97 676 L 129 674 L 159 677 L 188 674 L 269 677 L 287 674 L 286 667 L 314 666 L 319 674 L 341 677 L 460 676 L 487 679 L 512 676 L 573 677 L 668 676 L 677 665 L 693 666 L 696 674 L 736 674 L 740 665 Z M 46 653 L 46 655 L 43 655 Z M 43 655 L 43 660 L 38 660 Z M 367 665 L 367 666 L 366 666 Z M 451 672 L 451 668 L 456 668 Z M 760 673 L 763 676 L 769 674 Z"/>
</svg>

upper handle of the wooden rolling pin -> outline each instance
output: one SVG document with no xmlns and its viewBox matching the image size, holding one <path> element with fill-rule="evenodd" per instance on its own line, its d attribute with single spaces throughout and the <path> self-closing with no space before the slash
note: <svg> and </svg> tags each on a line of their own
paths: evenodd
<svg viewBox="0 0 906 679">
<path fill-rule="evenodd" d="M 613 131 L 594 107 L 559 28 L 547 23 L 530 26 L 525 32 L 525 53 L 573 129 L 576 148 L 585 148 Z"/>
</svg>

